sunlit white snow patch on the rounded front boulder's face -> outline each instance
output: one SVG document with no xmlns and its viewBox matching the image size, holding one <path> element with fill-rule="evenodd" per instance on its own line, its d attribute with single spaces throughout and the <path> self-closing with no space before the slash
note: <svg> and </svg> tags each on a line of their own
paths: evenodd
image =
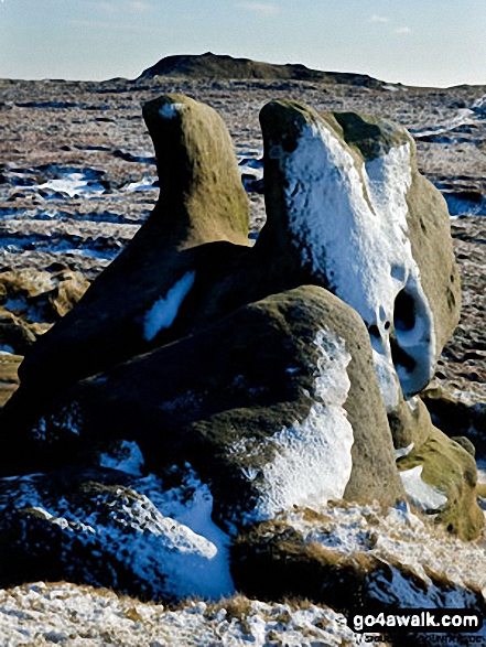
<svg viewBox="0 0 486 647">
<path fill-rule="evenodd" d="M 244 473 L 255 481 L 261 471 L 256 508 L 247 520 L 273 518 L 295 505 L 315 507 L 330 499 L 341 499 L 353 467 L 353 428 L 344 409 L 350 381 L 346 367 L 350 355 L 345 342 L 327 330 L 314 341 L 318 360 L 314 384 L 315 400 L 305 420 L 282 428 L 266 442 L 274 450 L 263 467 Z M 247 457 L 245 443 L 234 446 Z"/>
</svg>

